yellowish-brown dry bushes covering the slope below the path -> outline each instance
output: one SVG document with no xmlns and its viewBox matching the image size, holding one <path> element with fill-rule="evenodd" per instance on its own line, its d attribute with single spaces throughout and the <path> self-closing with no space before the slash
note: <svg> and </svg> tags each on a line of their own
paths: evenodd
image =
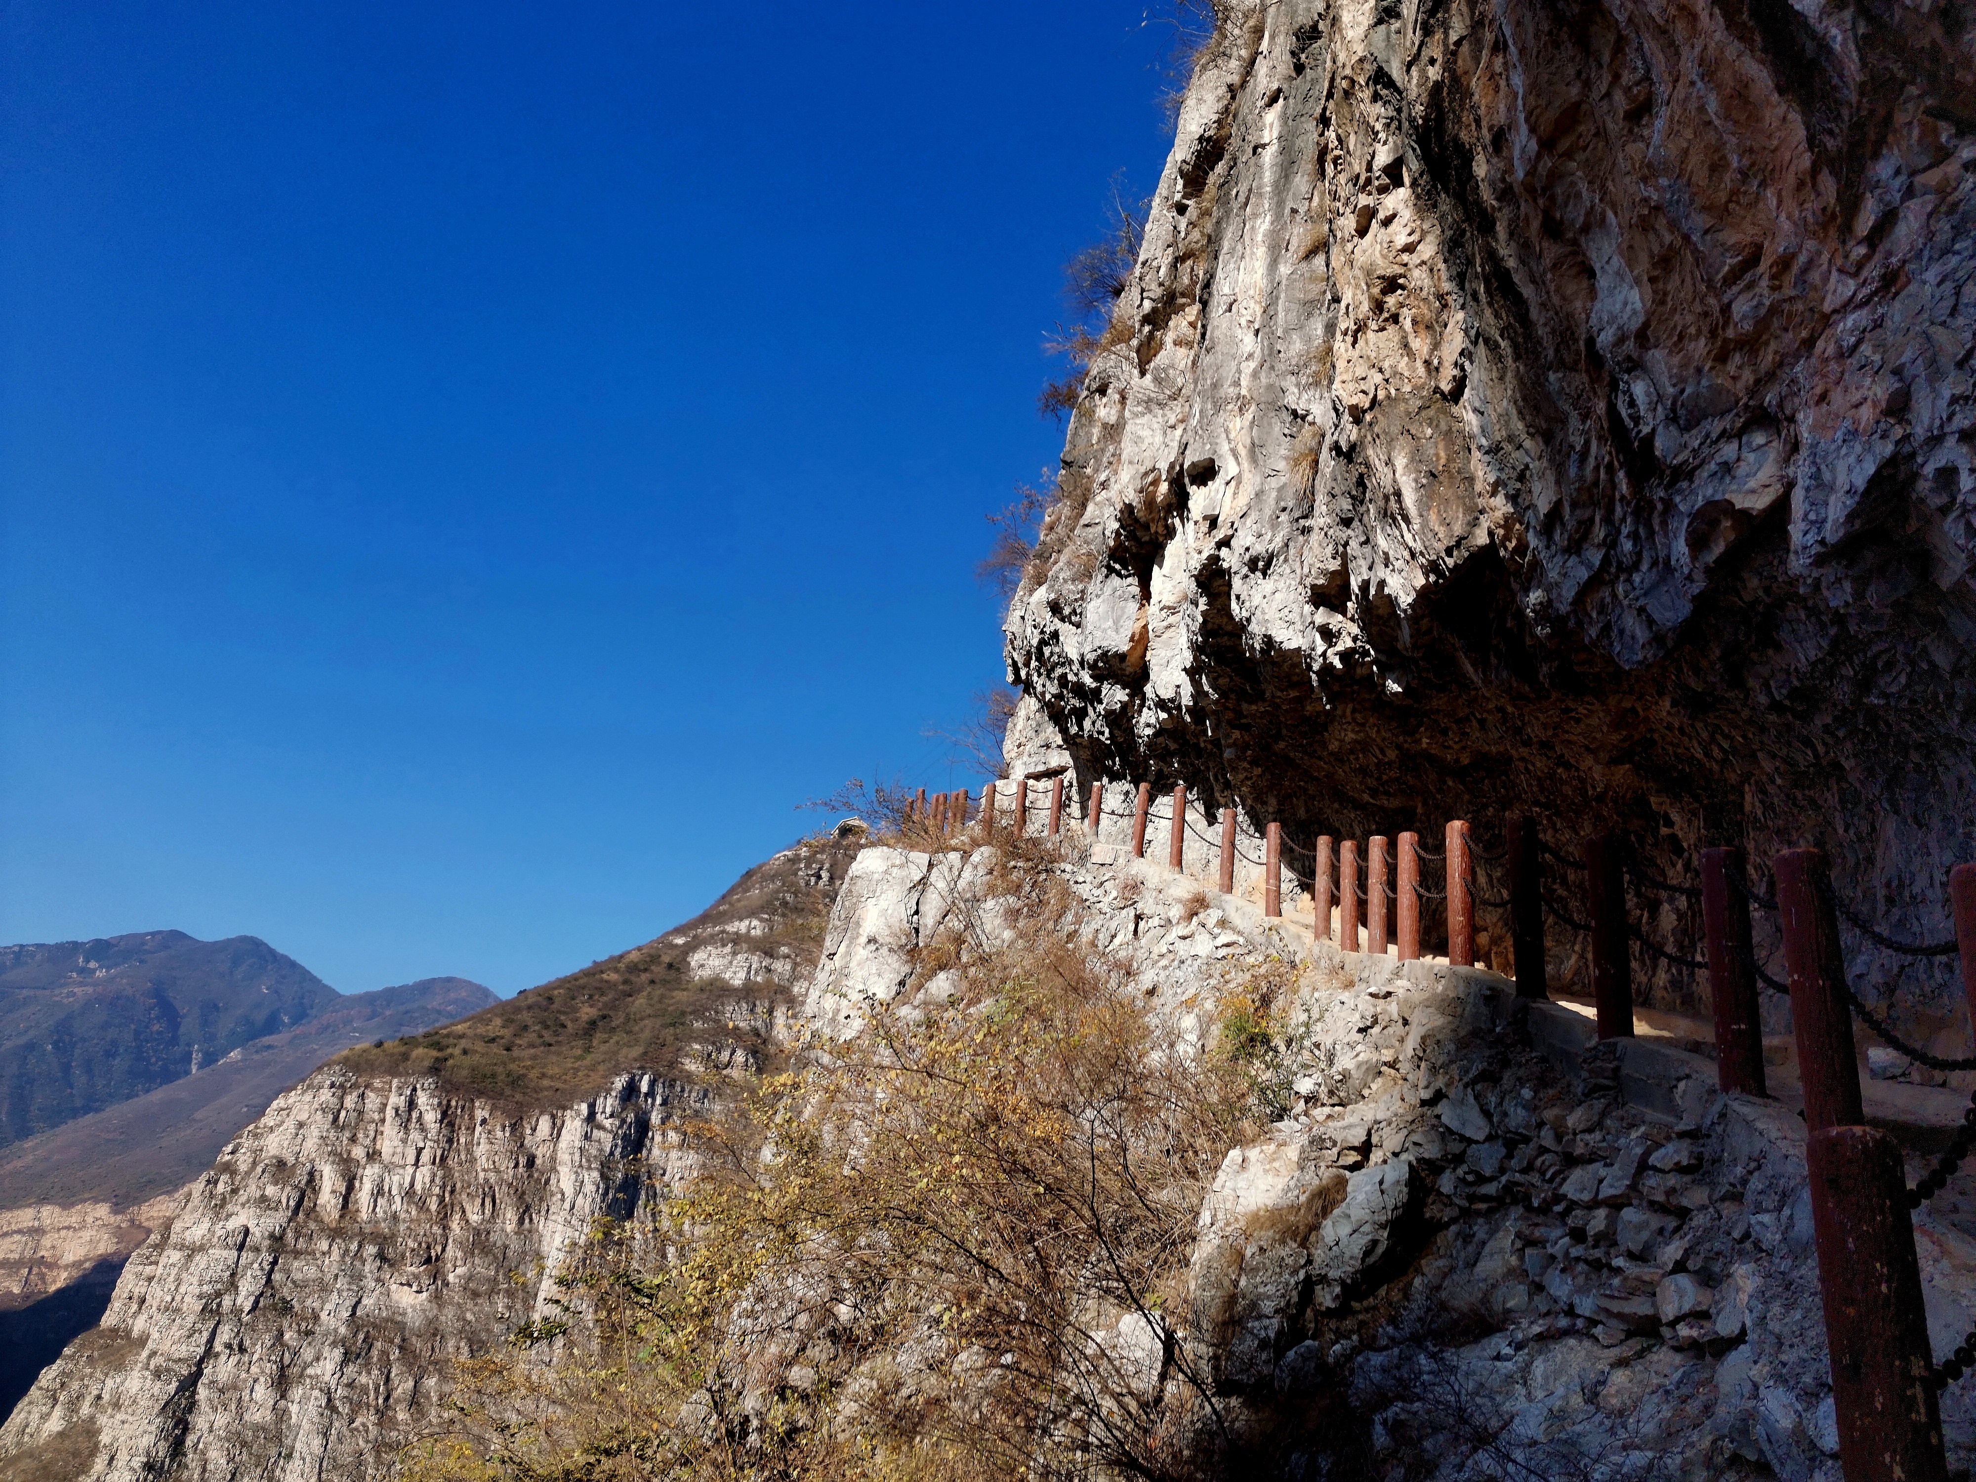
<svg viewBox="0 0 1976 1482">
<path fill-rule="evenodd" d="M 407 1476 L 1192 1476 L 1219 1411 L 1186 1261 L 1253 1077 L 1144 1012 L 1051 860 L 998 852 L 990 909 L 917 964 L 950 998 L 871 1008 L 701 1126 L 713 1172 L 601 1225 Z"/>
</svg>

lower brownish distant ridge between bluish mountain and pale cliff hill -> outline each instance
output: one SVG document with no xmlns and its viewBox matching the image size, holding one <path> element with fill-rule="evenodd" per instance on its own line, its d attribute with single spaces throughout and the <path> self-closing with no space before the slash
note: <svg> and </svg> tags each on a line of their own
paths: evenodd
<svg viewBox="0 0 1976 1482">
<path fill-rule="evenodd" d="M 421 1033 L 496 1002 L 466 978 L 336 994 L 294 1029 L 251 1039 L 198 1075 L 0 1150 L 0 1209 L 83 1199 L 130 1209 L 204 1172 L 275 1097 L 340 1049 Z"/>
</svg>

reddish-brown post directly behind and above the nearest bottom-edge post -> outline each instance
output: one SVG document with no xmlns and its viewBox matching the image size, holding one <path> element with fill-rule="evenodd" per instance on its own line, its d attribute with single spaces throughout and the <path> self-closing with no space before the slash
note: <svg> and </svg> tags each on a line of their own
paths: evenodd
<svg viewBox="0 0 1976 1482">
<path fill-rule="evenodd" d="M 1814 1132 L 1857 1126 L 1865 1120 L 1859 1057 L 1824 854 L 1784 850 L 1776 856 L 1776 915 L 1790 970 L 1790 1033 L 1798 1041 L 1798 1073 L 1804 1079 L 1804 1124 Z"/>
</svg>

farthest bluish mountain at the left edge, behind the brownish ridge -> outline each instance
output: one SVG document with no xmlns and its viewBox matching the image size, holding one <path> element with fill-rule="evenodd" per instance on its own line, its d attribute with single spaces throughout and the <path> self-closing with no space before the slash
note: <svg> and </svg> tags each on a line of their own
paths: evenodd
<svg viewBox="0 0 1976 1482">
<path fill-rule="evenodd" d="M 0 1148 L 142 1097 L 342 998 L 257 937 L 0 947 Z"/>
</svg>

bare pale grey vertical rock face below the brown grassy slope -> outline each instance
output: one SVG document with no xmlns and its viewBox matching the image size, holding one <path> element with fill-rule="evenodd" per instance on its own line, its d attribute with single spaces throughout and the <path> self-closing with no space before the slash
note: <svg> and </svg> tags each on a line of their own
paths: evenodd
<svg viewBox="0 0 1976 1482">
<path fill-rule="evenodd" d="M 0 1429 L 0 1476 L 385 1478 L 451 1381 L 553 1294 L 591 1219 L 686 1172 L 703 1091 L 622 1077 L 563 1112 L 330 1067 L 281 1097 Z"/>
</svg>

